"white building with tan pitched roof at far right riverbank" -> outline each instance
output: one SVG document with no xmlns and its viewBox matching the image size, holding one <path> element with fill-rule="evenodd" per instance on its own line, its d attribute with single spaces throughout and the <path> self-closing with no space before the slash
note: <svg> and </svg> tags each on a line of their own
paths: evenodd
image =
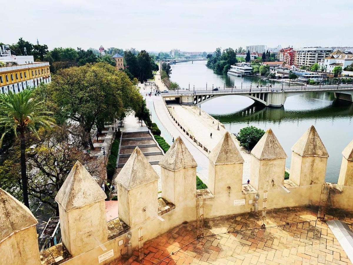
<svg viewBox="0 0 353 265">
<path fill-rule="evenodd" d="M 326 72 L 332 73 L 335 66 L 341 66 L 342 70 L 353 63 L 353 54 L 351 52 L 343 53 L 340 50 L 330 53 L 328 57 L 319 61 L 320 69 L 325 67 Z"/>
</svg>

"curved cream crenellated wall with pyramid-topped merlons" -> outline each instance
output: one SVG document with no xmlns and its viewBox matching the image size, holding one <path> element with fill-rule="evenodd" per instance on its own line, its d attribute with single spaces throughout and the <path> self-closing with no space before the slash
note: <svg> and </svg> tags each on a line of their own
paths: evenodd
<svg viewBox="0 0 353 265">
<path fill-rule="evenodd" d="M 125 243 L 128 240 L 124 233 L 128 231 L 132 247 L 138 248 L 139 243 L 143 244 L 184 221 L 195 221 L 200 214 L 203 218 L 214 218 L 255 211 L 256 194 L 259 195 L 258 211 L 262 211 L 262 207 L 267 210 L 319 207 L 328 153 L 313 126 L 292 147 L 292 152 L 290 179 L 284 180 L 287 155 L 269 129 L 251 152 L 251 182 L 243 185 L 244 160 L 227 132 L 209 154 L 210 187 L 200 194 L 196 191 L 196 161 L 178 137 L 160 161 L 162 198 L 158 199 L 159 176 L 136 147 L 116 177 L 119 218 L 108 224 L 104 211 L 105 194 L 77 162 L 56 196 L 63 243 L 73 257 L 65 264 L 98 264 L 98 257 L 112 253 L 112 257 L 99 264 L 110 263 L 121 254 L 127 254 Z M 342 154 L 339 182 L 345 186 L 330 184 L 328 207 L 353 211 L 353 205 L 349 203 L 353 200 L 353 141 Z M 0 189 L 0 195 L 6 196 L 7 200 L 16 200 L 1 192 Z M 267 198 L 265 205 L 264 198 Z M 1 202 L 0 220 L 7 214 Z M 16 204 L 20 203 L 17 201 Z M 200 210 L 202 212 L 198 212 Z M 24 216 L 32 218 L 28 212 Z M 26 264 L 28 253 L 20 257 L 11 256 L 8 251 L 26 253 L 26 249 L 31 249 L 32 264 L 39 264 L 38 246 L 34 240 L 35 220 L 31 219 L 28 224 L 19 218 L 14 220 L 19 223 L 16 231 L 12 231 L 9 224 L 0 222 L 0 228 L 8 231 L 6 236 L 0 237 L 0 255 L 6 259 L 17 258 Z M 119 230 L 119 227 L 125 227 L 125 230 Z M 119 231 L 112 235 L 114 229 Z M 24 242 L 27 244 L 19 244 L 22 237 L 26 237 Z M 113 239 L 108 240 L 108 237 Z M 33 242 L 31 248 L 28 246 L 30 242 Z"/>
</svg>

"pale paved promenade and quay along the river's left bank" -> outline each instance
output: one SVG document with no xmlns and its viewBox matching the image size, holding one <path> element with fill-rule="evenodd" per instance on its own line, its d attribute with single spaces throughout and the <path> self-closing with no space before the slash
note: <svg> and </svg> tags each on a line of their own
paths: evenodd
<svg viewBox="0 0 353 265">
<path fill-rule="evenodd" d="M 159 71 L 155 76 L 155 83 L 161 91 L 168 89 L 160 80 Z M 144 98 L 146 98 L 147 107 L 152 113 L 152 122 L 157 123 L 158 127 L 161 129 L 161 136 L 163 136 L 166 140 L 168 138 L 172 139 L 173 137 L 176 139 L 178 136 L 183 139 L 185 145 L 197 162 L 197 175 L 205 184 L 208 184 L 208 153 L 192 139 L 190 139 L 190 137 L 187 136 L 182 129 L 180 129 L 180 127 L 170 116 L 168 109 L 173 113 L 173 117 L 178 120 L 179 124 L 183 124 L 183 128 L 191 135 L 195 136 L 195 138 L 201 142 L 203 146 L 207 147 L 209 151 L 211 151 L 221 140 L 221 137 L 226 133 L 226 129 L 224 129 L 220 123 L 220 129 L 217 130 L 217 120 L 211 117 L 208 113 L 204 112 L 202 109 L 200 116 L 199 108 L 196 106 L 182 106 L 177 103 L 170 103 L 167 101 L 169 106 L 167 109 L 162 97 L 154 95 L 153 86 L 147 86 L 145 89 L 143 89 L 143 84 L 140 84 L 139 86 L 141 94 Z M 151 88 L 152 95 L 146 97 L 146 93 L 151 92 Z M 212 133 L 212 138 L 210 137 L 210 133 Z M 243 169 L 244 184 L 250 176 L 250 154 L 247 153 L 243 147 L 240 147 L 239 142 L 234 135 L 232 135 L 232 138 L 245 160 Z M 168 140 L 167 142 L 171 144 Z"/>
</svg>

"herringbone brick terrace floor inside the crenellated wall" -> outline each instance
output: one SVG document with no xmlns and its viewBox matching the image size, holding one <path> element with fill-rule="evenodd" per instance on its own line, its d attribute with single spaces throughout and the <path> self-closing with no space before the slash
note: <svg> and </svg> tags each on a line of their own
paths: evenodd
<svg viewBox="0 0 353 265">
<path fill-rule="evenodd" d="M 352 229 L 352 213 L 335 218 Z M 261 212 L 205 219 L 199 238 L 196 222 L 179 225 L 144 243 L 144 264 L 351 264 L 316 209 L 268 211 L 265 223 Z M 110 264 L 139 264 L 138 251 Z"/>
</svg>

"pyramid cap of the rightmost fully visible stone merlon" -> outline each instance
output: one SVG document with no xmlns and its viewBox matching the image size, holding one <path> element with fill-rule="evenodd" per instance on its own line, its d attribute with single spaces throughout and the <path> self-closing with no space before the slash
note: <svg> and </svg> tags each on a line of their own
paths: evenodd
<svg viewBox="0 0 353 265">
<path fill-rule="evenodd" d="M 292 147 L 292 151 L 299 154 L 301 157 L 329 157 L 314 125 L 311 125 L 299 138 Z"/>
</svg>

